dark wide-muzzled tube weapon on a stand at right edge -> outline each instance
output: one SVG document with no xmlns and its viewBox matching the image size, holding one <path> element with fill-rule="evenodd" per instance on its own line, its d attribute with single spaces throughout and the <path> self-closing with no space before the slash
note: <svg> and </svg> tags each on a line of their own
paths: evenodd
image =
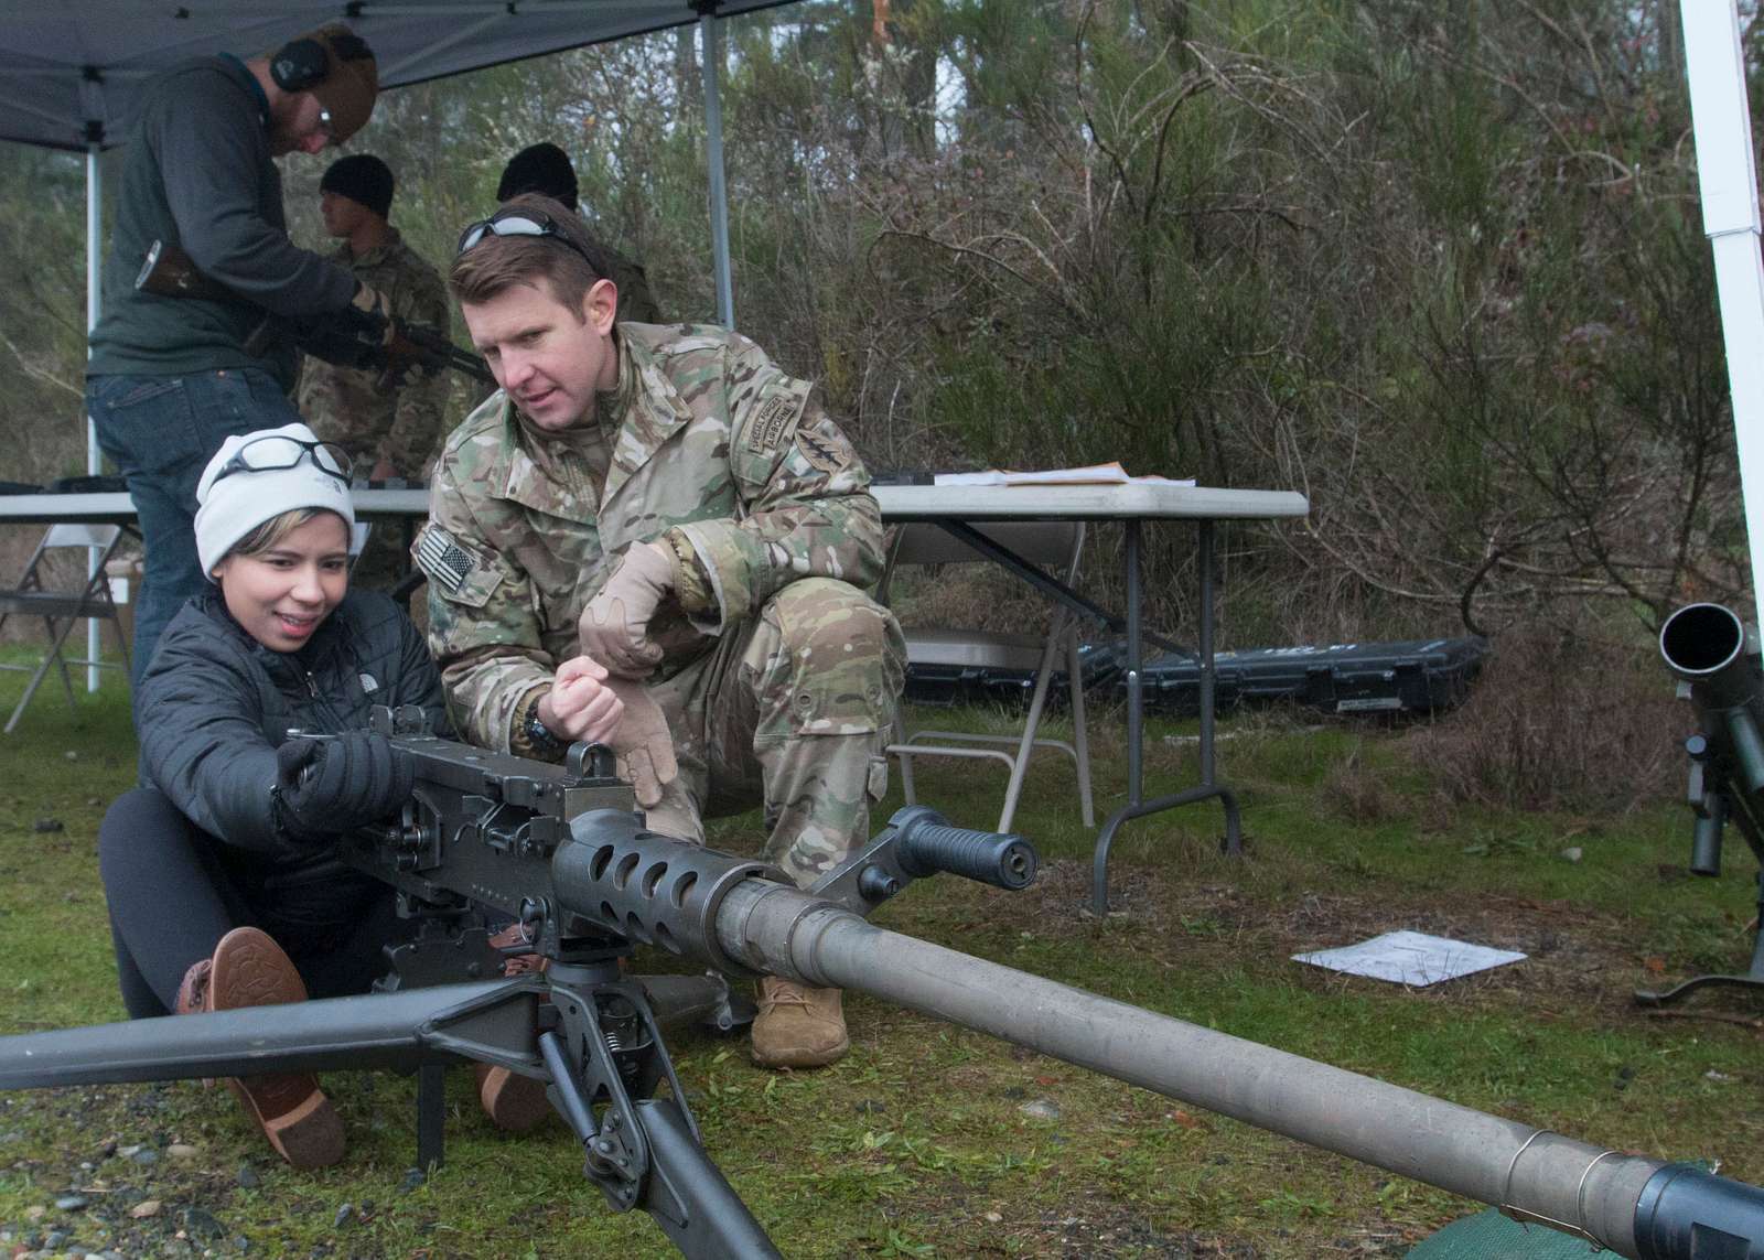
<svg viewBox="0 0 1764 1260">
<path fill-rule="evenodd" d="M 1764 656 L 1757 628 L 1720 604 L 1688 604 L 1660 626 L 1660 656 L 1697 706 L 1697 734 L 1685 741 L 1690 785 L 1690 874 L 1722 874 L 1727 824 L 1759 859 L 1759 926 L 1752 965 L 1741 976 L 1693 976 L 1665 992 L 1641 992 L 1644 1006 L 1676 1002 L 1699 988 L 1764 988 Z"/>
</svg>

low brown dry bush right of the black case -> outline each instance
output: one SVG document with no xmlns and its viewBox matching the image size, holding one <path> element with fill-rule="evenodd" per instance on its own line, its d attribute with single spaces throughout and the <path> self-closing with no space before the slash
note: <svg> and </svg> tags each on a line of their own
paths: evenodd
<svg viewBox="0 0 1764 1260">
<path fill-rule="evenodd" d="M 1529 621 L 1461 709 L 1404 745 L 1452 801 L 1630 810 L 1674 791 L 1692 724 L 1649 639 Z"/>
</svg>

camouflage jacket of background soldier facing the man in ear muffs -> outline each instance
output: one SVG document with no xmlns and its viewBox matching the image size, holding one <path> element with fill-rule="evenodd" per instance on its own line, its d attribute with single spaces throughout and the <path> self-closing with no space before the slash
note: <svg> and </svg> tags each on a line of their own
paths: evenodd
<svg viewBox="0 0 1764 1260">
<path fill-rule="evenodd" d="M 330 258 L 385 293 L 393 314 L 448 332 L 446 286 L 397 228 L 386 244 L 360 258 L 348 242 Z M 348 450 L 358 473 L 385 459 L 400 476 L 422 476 L 446 432 L 452 381 L 441 369 L 411 369 L 397 388 L 383 390 L 377 381 L 379 372 L 307 358 L 300 369 L 300 415 L 319 438 Z"/>
</svg>

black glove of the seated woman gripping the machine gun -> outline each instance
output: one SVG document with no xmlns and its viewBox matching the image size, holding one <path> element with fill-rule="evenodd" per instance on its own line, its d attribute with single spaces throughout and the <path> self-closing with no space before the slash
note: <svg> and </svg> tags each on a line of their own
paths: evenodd
<svg viewBox="0 0 1764 1260">
<path fill-rule="evenodd" d="M 411 798 L 416 766 L 377 731 L 289 739 L 275 750 L 275 782 L 286 829 L 300 840 L 392 817 Z"/>
</svg>

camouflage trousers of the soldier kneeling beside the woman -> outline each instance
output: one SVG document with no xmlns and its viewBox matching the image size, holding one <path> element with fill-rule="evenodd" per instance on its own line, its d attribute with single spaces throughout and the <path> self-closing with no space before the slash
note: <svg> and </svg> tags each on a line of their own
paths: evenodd
<svg viewBox="0 0 1764 1260">
<path fill-rule="evenodd" d="M 764 805 L 764 859 L 813 882 L 870 838 L 905 671 L 893 612 L 834 579 L 785 586 L 709 655 L 646 688 L 679 762 L 649 828 L 702 844 L 704 817 Z"/>
</svg>

